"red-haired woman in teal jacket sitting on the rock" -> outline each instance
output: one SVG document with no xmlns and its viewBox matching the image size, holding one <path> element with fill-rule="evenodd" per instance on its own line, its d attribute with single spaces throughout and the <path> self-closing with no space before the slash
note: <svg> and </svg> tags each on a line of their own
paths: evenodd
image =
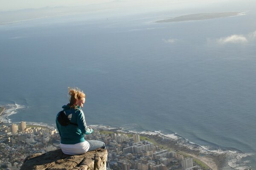
<svg viewBox="0 0 256 170">
<path fill-rule="evenodd" d="M 60 144 L 62 152 L 68 155 L 77 155 L 98 148 L 106 149 L 104 142 L 84 140 L 84 135 L 93 133 L 93 129 L 87 127 L 84 113 L 81 110 L 85 102 L 85 94 L 83 91 L 79 88 L 69 88 L 69 95 L 70 103 L 62 106 L 62 108 L 70 122 L 73 124 L 61 126 L 56 118 L 57 129 L 61 136 Z"/>
</svg>

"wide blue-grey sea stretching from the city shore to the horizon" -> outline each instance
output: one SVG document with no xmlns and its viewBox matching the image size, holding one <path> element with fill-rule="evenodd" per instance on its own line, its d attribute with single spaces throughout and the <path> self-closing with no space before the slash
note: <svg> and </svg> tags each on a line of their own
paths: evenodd
<svg viewBox="0 0 256 170">
<path fill-rule="evenodd" d="M 67 87 L 79 87 L 88 125 L 176 135 L 233 153 L 224 170 L 255 169 L 256 13 L 154 23 L 170 15 L 0 26 L 0 105 L 9 121 L 54 125 Z M 247 41 L 222 43 L 232 35 Z"/>
</svg>

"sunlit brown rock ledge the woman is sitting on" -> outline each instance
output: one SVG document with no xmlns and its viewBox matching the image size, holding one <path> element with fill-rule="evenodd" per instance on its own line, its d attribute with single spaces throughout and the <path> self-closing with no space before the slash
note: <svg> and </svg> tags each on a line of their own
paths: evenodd
<svg viewBox="0 0 256 170">
<path fill-rule="evenodd" d="M 28 156 L 20 170 L 106 170 L 107 150 L 65 155 L 61 149 Z"/>
</svg>

